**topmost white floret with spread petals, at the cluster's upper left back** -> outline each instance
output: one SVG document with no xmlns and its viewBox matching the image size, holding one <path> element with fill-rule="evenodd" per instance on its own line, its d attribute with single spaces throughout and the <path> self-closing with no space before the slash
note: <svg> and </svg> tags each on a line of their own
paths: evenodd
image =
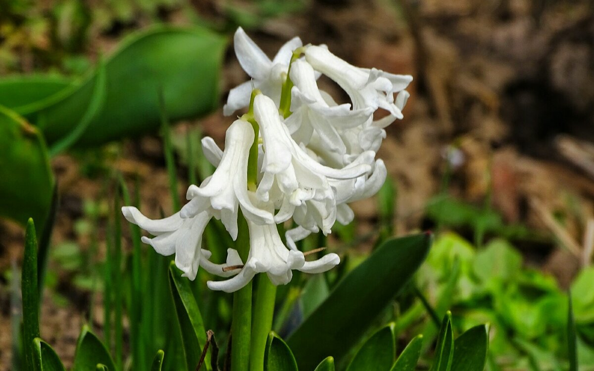
<svg viewBox="0 0 594 371">
<path fill-rule="evenodd" d="M 287 41 L 273 60 L 266 56 L 241 27 L 235 31 L 233 45 L 239 64 L 252 80 L 229 91 L 227 104 L 223 107 L 223 114 L 229 116 L 236 110 L 248 107 L 249 98 L 254 88 L 260 89 L 263 94 L 272 98 L 278 105 L 293 50 L 303 45 L 301 39 L 294 37 Z"/>
</svg>

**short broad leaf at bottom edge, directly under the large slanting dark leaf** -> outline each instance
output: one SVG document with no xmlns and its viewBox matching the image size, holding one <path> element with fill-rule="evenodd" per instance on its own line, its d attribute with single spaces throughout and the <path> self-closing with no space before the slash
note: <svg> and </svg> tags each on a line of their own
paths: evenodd
<svg viewBox="0 0 594 371">
<path fill-rule="evenodd" d="M 347 371 L 386 371 L 396 357 L 394 324 L 375 332 L 355 354 Z"/>
</svg>

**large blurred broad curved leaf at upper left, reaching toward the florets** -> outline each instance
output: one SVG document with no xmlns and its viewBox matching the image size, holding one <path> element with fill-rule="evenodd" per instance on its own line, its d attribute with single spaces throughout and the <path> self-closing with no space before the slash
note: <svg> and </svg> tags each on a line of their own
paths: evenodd
<svg viewBox="0 0 594 371">
<path fill-rule="evenodd" d="M 159 100 L 172 121 L 201 116 L 219 103 L 226 39 L 206 28 L 159 26 L 125 40 L 105 64 L 106 94 L 75 145 L 99 145 L 159 127 Z M 79 84 L 20 107 L 48 143 L 67 137 L 81 123 L 96 94 L 99 69 Z M 0 101 L 2 104 L 2 101 Z"/>
</svg>

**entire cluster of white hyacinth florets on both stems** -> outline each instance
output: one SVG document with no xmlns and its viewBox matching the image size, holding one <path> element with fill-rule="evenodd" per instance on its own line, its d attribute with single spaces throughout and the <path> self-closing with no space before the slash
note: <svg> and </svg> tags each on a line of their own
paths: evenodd
<svg viewBox="0 0 594 371">
<path fill-rule="evenodd" d="M 375 153 L 384 130 L 402 109 L 412 81 L 378 69 L 358 68 L 333 55 L 324 45 L 306 45 L 295 37 L 273 60 L 239 28 L 235 53 L 250 81 L 229 92 L 223 113 L 248 113 L 229 126 L 222 150 L 210 137 L 202 140 L 204 155 L 216 167 L 200 186 L 189 186 L 188 203 L 168 218 L 151 220 L 135 207 L 122 207 L 143 236 L 162 255 L 175 254 L 183 275 L 194 280 L 198 268 L 226 277 L 209 281 L 212 290 L 235 292 L 257 273 L 275 284 L 286 284 L 292 270 L 321 273 L 340 263 L 334 253 L 308 261 L 296 243 L 309 234 L 330 234 L 334 223 L 350 223 L 348 204 L 377 193 L 386 180 L 386 165 Z M 318 88 L 325 75 L 349 96 L 338 104 Z M 374 119 L 377 110 L 387 111 Z M 226 262 L 209 260 L 203 248 L 204 229 L 211 218 L 221 220 L 230 236 L 238 236 L 238 215 L 247 221 L 249 254 L 242 261 L 228 249 Z M 286 245 L 277 224 L 293 220 Z"/>
</svg>

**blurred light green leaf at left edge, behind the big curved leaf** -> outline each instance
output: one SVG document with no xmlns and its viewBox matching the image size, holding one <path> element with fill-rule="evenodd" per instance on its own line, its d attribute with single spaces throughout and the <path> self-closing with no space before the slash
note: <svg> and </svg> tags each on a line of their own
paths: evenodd
<svg viewBox="0 0 594 371">
<path fill-rule="evenodd" d="M 20 112 L 72 84 L 72 79 L 56 75 L 8 76 L 0 79 L 0 104 Z"/>
</svg>

